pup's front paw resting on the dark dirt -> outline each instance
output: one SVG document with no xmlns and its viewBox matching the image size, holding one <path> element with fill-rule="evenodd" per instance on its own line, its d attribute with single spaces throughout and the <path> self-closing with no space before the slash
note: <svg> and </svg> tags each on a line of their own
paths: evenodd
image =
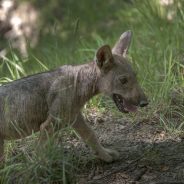
<svg viewBox="0 0 184 184">
<path fill-rule="evenodd" d="M 103 152 L 99 154 L 99 158 L 105 162 L 113 162 L 119 158 L 119 153 L 116 150 L 103 148 Z"/>
</svg>

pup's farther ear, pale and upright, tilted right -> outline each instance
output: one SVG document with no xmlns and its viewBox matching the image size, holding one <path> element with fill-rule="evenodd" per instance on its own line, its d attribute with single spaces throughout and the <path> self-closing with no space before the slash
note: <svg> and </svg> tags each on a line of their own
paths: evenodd
<svg viewBox="0 0 184 184">
<path fill-rule="evenodd" d="M 117 55 L 122 55 L 125 57 L 128 53 L 128 49 L 131 43 L 131 38 L 132 38 L 131 31 L 124 32 L 121 35 L 120 39 L 115 44 L 115 46 L 113 47 L 112 53 Z"/>
</svg>

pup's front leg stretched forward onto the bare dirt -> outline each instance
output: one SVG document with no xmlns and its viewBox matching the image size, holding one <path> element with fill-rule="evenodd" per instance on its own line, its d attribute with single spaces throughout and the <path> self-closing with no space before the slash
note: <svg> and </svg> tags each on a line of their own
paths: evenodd
<svg viewBox="0 0 184 184">
<path fill-rule="evenodd" d="M 97 156 L 105 162 L 112 162 L 119 157 L 119 153 L 115 150 L 104 148 L 98 141 L 93 130 L 85 123 L 81 114 L 78 115 L 77 120 L 73 124 L 73 128 L 82 137 L 97 154 Z"/>
</svg>

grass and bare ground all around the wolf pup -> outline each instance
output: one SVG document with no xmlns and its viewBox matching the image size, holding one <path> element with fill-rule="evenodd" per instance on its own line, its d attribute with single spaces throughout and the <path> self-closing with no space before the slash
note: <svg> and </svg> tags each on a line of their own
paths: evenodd
<svg viewBox="0 0 184 184">
<path fill-rule="evenodd" d="M 40 41 L 25 59 L 10 47 L 1 60 L 0 84 L 65 64 L 86 63 L 100 46 L 113 47 L 122 32 L 132 30 L 128 57 L 152 109 L 137 112 L 132 119 L 112 113 L 111 107 L 105 113 L 91 108 L 84 113 L 101 143 L 120 152 L 120 159 L 110 164 L 95 158 L 70 128 L 60 132 L 66 136 L 59 144 L 50 143 L 41 154 L 34 144 L 39 133 L 7 141 L 0 183 L 68 184 L 76 175 L 78 184 L 184 183 L 184 1 L 168 6 L 160 0 L 30 1 L 43 17 Z M 91 103 L 98 108 L 106 102 L 94 98 Z M 165 111 L 176 116 L 167 117 Z"/>
</svg>

